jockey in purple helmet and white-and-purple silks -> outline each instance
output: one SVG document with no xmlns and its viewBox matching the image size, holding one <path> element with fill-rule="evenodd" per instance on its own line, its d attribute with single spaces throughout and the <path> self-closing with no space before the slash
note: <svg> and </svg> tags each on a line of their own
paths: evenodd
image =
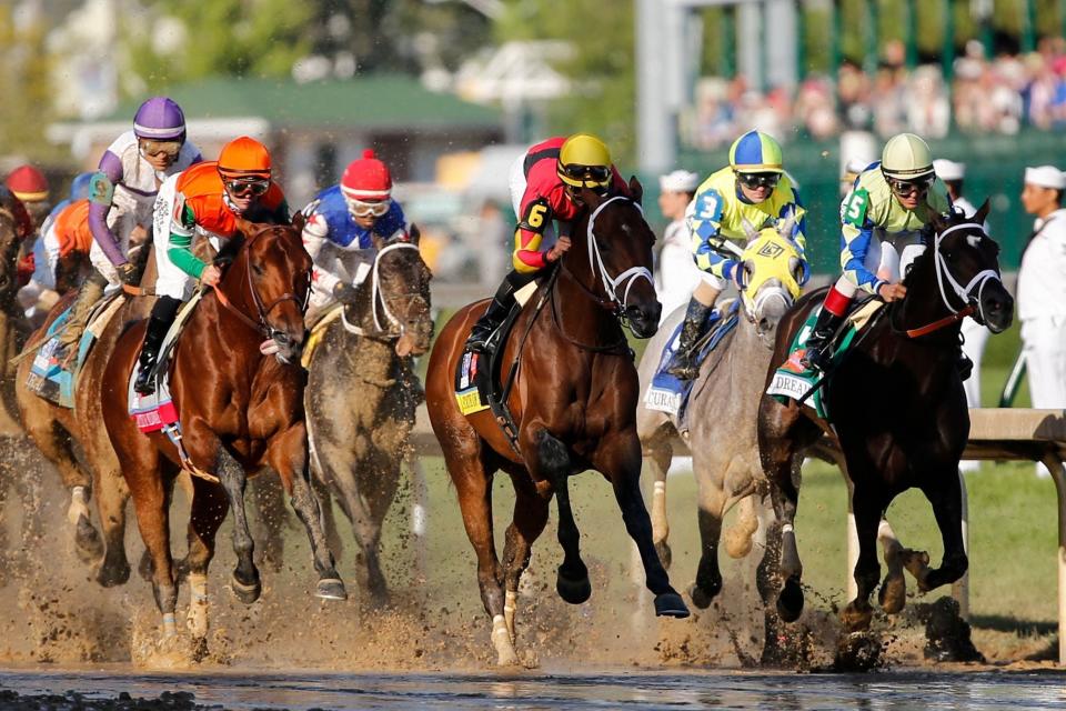
<svg viewBox="0 0 1066 711">
<path fill-rule="evenodd" d="M 104 151 L 89 188 L 89 260 L 95 271 L 71 307 L 60 342 L 76 343 L 104 287 L 135 284 L 140 273 L 127 258 L 130 238 L 151 234 L 155 193 L 170 176 L 200 162 L 200 150 L 185 141 L 185 116 L 167 97 L 153 97 L 133 117 L 133 130 Z M 135 240 L 139 241 L 139 240 Z"/>
</svg>

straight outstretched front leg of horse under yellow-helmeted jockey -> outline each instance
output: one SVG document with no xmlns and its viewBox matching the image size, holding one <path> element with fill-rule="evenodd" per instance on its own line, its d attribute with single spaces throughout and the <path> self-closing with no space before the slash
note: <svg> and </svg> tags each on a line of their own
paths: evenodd
<svg viewBox="0 0 1066 711">
<path fill-rule="evenodd" d="M 688 617 L 688 608 L 671 587 L 670 575 L 658 560 L 652 542 L 652 521 L 641 497 L 641 443 L 636 434 L 623 431 L 603 438 L 593 464 L 614 488 L 614 498 L 622 511 L 625 530 L 641 553 L 645 584 L 655 593 L 655 614 Z"/>
</svg>

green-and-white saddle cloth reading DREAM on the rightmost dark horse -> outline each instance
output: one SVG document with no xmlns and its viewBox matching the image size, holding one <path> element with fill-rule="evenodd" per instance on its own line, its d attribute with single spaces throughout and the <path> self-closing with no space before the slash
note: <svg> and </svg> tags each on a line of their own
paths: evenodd
<svg viewBox="0 0 1066 711">
<path fill-rule="evenodd" d="M 855 337 L 869 324 L 871 319 L 883 306 L 885 306 L 883 301 L 871 299 L 857 304 L 847 316 L 844 324 L 837 330 L 836 336 L 829 343 L 832 349 L 831 373 L 852 348 Z M 819 306 L 807 314 L 803 328 L 796 332 L 792 340 L 792 346 L 788 348 L 788 358 L 774 373 L 770 387 L 766 388 L 766 394 L 774 395 L 782 404 L 785 404 L 790 399 L 797 402 L 802 400 L 803 404 L 812 408 L 817 417 L 832 421 L 825 402 L 825 388 L 818 387 L 822 379 L 827 375 L 824 375 L 819 370 L 809 369 L 803 364 L 803 359 L 807 353 L 807 338 L 814 332 L 814 324 L 821 312 L 822 307 Z"/>
</svg>

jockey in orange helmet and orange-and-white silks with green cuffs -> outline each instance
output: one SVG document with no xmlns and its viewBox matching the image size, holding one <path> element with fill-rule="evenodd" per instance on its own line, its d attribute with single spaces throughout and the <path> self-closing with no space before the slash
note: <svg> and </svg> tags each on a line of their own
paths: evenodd
<svg viewBox="0 0 1066 711">
<path fill-rule="evenodd" d="M 271 180 L 270 152 L 247 136 L 227 143 L 218 161 L 197 163 L 168 178 L 159 189 L 153 231 L 159 298 L 141 347 L 140 372 L 133 384 L 139 393 L 155 391 L 151 371 L 190 281 L 199 279 L 202 286 L 214 287 L 222 279 L 221 269 L 192 253 L 193 236 L 200 232 L 229 239 L 237 232 L 237 219 L 251 213 L 257 220 L 290 221 L 285 196 Z"/>
</svg>

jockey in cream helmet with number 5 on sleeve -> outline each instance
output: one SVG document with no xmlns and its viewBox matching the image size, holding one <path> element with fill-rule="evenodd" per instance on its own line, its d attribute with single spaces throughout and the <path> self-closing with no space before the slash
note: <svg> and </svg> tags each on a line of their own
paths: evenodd
<svg viewBox="0 0 1066 711">
<path fill-rule="evenodd" d="M 899 133 L 885 143 L 879 162 L 872 163 L 855 180 L 855 189 L 841 204 L 841 268 L 825 297 L 822 312 L 807 338 L 804 362 L 825 370 L 826 347 L 843 323 L 859 289 L 886 302 L 902 299 L 904 274 L 878 276 L 881 241 L 921 233 L 934 213 L 948 210 L 944 186 L 933 170 L 933 152 L 914 133 Z"/>
</svg>

